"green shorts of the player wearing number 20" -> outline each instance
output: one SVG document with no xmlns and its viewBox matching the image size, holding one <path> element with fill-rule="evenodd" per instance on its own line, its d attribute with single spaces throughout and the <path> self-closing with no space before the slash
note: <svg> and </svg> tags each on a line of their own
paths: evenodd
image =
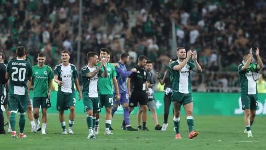
<svg viewBox="0 0 266 150">
<path fill-rule="evenodd" d="M 28 95 L 9 94 L 8 110 L 27 112 Z"/>
</svg>

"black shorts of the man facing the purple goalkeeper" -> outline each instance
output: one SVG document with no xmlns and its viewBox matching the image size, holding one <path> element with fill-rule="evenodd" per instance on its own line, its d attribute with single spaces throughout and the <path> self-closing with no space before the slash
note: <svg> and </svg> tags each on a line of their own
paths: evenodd
<svg viewBox="0 0 266 150">
<path fill-rule="evenodd" d="M 139 95 L 133 92 L 129 99 L 129 107 L 137 107 L 138 102 L 140 105 L 148 105 L 147 95 Z"/>
</svg>

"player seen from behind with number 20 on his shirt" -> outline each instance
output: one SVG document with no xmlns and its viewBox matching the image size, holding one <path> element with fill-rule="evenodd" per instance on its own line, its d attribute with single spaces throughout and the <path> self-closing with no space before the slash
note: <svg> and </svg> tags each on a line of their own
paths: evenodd
<svg viewBox="0 0 266 150">
<path fill-rule="evenodd" d="M 17 59 L 10 60 L 7 65 L 6 79 L 9 80 L 9 102 L 8 110 L 10 110 L 10 126 L 12 129 L 11 137 L 17 138 L 15 130 L 16 126 L 16 113 L 17 110 L 20 114 L 19 137 L 25 138 L 23 133 L 25 127 L 25 112 L 27 111 L 27 82 L 32 80 L 31 64 L 28 61 L 23 60 L 25 56 L 25 47 L 19 46 L 16 50 Z"/>
</svg>

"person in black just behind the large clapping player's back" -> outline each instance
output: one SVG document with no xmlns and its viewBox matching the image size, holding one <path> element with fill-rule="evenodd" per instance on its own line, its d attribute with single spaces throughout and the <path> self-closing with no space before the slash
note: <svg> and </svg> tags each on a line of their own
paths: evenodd
<svg viewBox="0 0 266 150">
<path fill-rule="evenodd" d="M 171 59 L 169 61 L 169 67 L 172 61 L 176 61 L 177 59 Z M 158 72 L 157 73 L 157 79 L 159 80 L 160 84 L 164 85 L 164 124 L 162 127 L 162 131 L 165 131 L 167 126 L 168 126 L 168 115 L 169 115 L 169 110 L 170 110 L 170 105 L 171 105 L 171 96 L 172 96 L 172 86 L 173 86 L 173 81 L 170 79 L 170 70 L 166 71 L 164 73 L 163 79 L 161 79 L 161 74 Z"/>
</svg>

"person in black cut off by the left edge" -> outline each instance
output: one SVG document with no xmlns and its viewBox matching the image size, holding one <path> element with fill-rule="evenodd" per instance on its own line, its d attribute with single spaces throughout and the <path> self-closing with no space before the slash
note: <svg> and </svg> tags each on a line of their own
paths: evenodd
<svg viewBox="0 0 266 150">
<path fill-rule="evenodd" d="M 2 52 L 0 52 L 0 57 L 2 58 Z M 0 79 L 1 79 L 1 86 L 0 86 L 0 95 L 1 95 L 1 104 L 2 105 L 2 95 L 3 95 L 3 89 L 2 85 L 5 84 L 8 80 L 6 79 L 6 68 L 4 63 L 0 62 Z M 4 117 L 3 117 L 3 111 L 0 108 L 0 134 L 6 134 L 6 131 L 4 129 Z"/>
</svg>

